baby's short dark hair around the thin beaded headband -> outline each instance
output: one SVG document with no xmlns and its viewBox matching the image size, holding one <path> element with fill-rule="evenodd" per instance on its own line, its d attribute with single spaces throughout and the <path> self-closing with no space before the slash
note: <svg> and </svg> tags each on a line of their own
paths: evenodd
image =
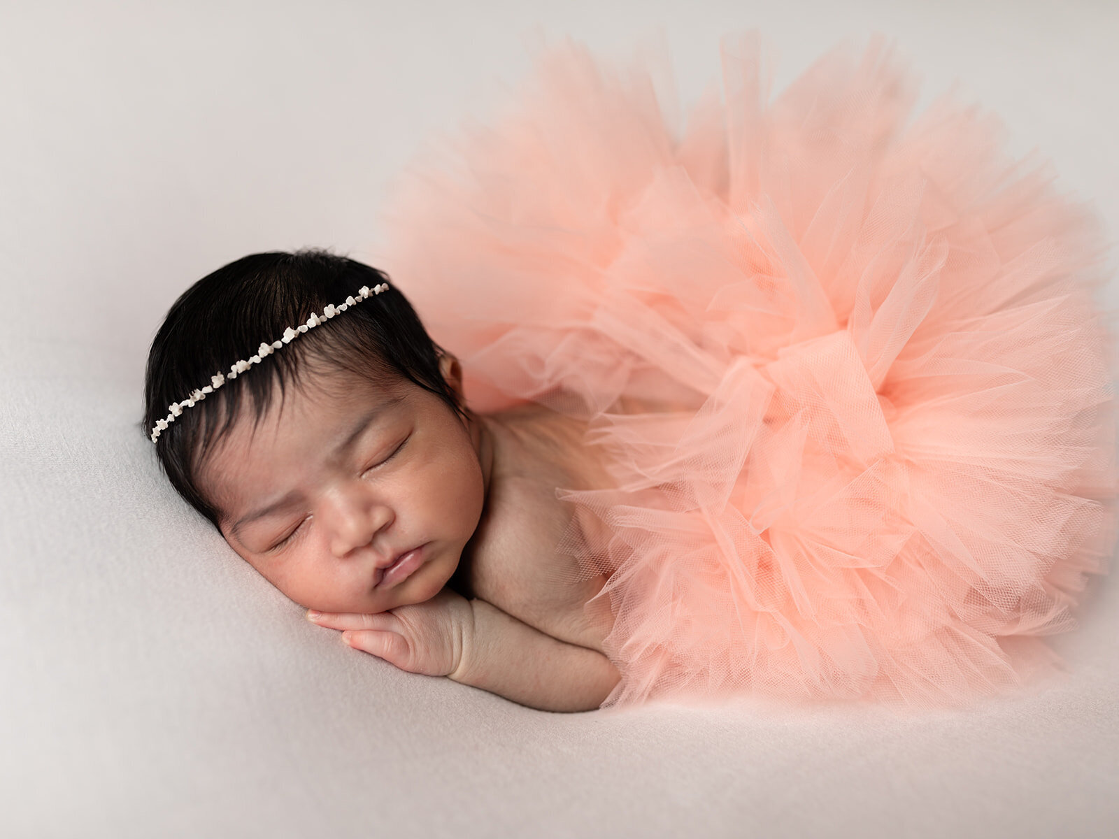
<svg viewBox="0 0 1119 839">
<path fill-rule="evenodd" d="M 187 289 L 175 301 L 151 342 L 144 378 L 143 433 L 163 420 L 172 403 L 210 384 L 238 359 L 256 355 L 262 342 L 278 340 L 288 327 L 321 314 L 358 289 L 388 282 L 388 275 L 322 248 L 294 253 L 274 251 L 231 262 Z M 210 446 L 234 424 L 243 402 L 258 423 L 285 384 L 298 384 L 301 371 L 325 362 L 377 384 L 407 379 L 439 396 L 457 414 L 469 409 L 439 369 L 445 355 L 420 321 L 404 294 L 389 283 L 340 317 L 308 330 L 299 340 L 254 364 L 248 374 L 227 380 L 205 400 L 182 413 L 160 432 L 156 454 L 171 484 L 196 510 L 218 527 L 213 502 L 199 490 L 197 470 Z M 247 390 L 246 390 L 247 388 Z"/>
</svg>

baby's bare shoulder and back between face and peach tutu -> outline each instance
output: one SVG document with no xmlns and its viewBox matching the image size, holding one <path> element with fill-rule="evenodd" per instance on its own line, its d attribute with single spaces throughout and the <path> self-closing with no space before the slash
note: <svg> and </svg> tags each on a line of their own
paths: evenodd
<svg viewBox="0 0 1119 839">
<path fill-rule="evenodd" d="M 568 527 L 600 527 L 556 489 L 604 489 L 601 452 L 585 423 L 532 405 L 486 417 L 495 441 L 487 508 L 452 585 L 561 641 L 602 652 L 609 605 L 586 604 L 605 584 L 564 553 Z M 571 548 L 568 548 L 570 550 Z"/>
</svg>

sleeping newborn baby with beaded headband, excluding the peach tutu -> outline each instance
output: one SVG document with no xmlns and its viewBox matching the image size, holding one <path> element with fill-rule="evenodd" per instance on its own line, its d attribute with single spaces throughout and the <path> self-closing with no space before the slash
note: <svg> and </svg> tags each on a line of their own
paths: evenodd
<svg viewBox="0 0 1119 839">
<path fill-rule="evenodd" d="M 351 647 L 534 708 L 598 708 L 620 679 L 609 609 L 589 606 L 606 575 L 558 549 L 596 525 L 556 489 L 608 488 L 603 453 L 539 405 L 471 412 L 458 359 L 385 280 L 317 249 L 199 280 L 148 359 L 160 463 Z"/>
</svg>

